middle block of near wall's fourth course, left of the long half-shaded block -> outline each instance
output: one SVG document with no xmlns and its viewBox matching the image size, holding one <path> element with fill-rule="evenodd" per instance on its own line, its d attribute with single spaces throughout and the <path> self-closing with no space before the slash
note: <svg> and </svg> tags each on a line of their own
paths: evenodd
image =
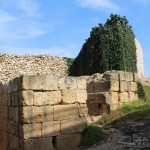
<svg viewBox="0 0 150 150">
<path fill-rule="evenodd" d="M 60 121 L 42 123 L 42 137 L 51 137 L 56 135 L 60 135 Z"/>
</svg>

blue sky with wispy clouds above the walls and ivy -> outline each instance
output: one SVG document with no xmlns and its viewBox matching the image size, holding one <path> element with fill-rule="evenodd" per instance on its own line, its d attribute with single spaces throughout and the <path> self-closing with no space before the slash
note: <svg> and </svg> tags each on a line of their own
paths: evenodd
<svg viewBox="0 0 150 150">
<path fill-rule="evenodd" d="M 126 16 L 150 77 L 150 0 L 0 0 L 0 52 L 76 57 L 91 28 Z"/>
</svg>

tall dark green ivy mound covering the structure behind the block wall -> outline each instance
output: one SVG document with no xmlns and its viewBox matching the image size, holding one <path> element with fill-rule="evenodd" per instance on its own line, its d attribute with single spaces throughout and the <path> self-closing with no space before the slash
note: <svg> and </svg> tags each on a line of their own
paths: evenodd
<svg viewBox="0 0 150 150">
<path fill-rule="evenodd" d="M 107 70 L 137 72 L 134 38 L 126 17 L 111 15 L 104 25 L 92 29 L 70 66 L 70 75 L 91 75 Z"/>
</svg>

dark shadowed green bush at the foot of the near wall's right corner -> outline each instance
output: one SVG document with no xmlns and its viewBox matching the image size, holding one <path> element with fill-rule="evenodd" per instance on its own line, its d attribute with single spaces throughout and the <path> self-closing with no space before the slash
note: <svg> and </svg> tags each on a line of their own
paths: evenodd
<svg viewBox="0 0 150 150">
<path fill-rule="evenodd" d="M 102 128 L 94 125 L 89 125 L 82 133 L 82 145 L 92 146 L 98 144 L 101 141 L 105 142 L 109 139 L 109 134 Z"/>
</svg>

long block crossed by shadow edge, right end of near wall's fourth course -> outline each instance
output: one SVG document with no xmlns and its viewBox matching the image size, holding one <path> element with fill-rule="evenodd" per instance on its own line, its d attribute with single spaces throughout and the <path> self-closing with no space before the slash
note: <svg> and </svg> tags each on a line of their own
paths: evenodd
<svg viewBox="0 0 150 150">
<path fill-rule="evenodd" d="M 87 120 L 85 117 L 61 121 L 62 134 L 81 133 L 86 127 Z"/>
</svg>

